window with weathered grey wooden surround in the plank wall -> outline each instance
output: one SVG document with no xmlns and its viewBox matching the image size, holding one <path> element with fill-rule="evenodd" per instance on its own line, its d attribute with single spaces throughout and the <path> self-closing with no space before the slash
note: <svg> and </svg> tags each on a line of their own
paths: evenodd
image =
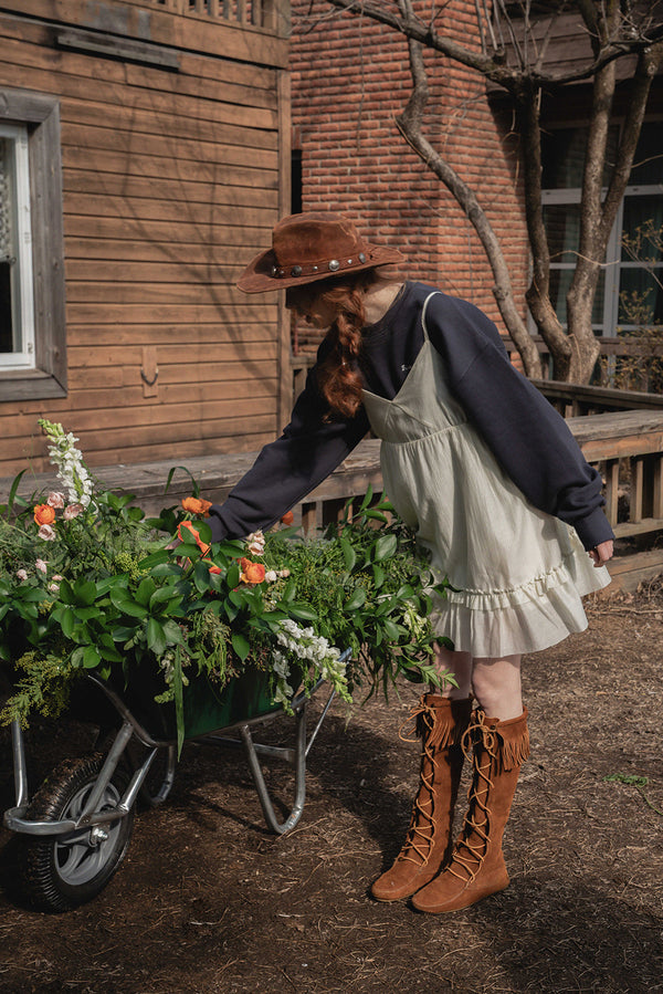
<svg viewBox="0 0 663 994">
<path fill-rule="evenodd" d="M 0 90 L 0 401 L 66 393 L 59 103 Z"/>
</svg>

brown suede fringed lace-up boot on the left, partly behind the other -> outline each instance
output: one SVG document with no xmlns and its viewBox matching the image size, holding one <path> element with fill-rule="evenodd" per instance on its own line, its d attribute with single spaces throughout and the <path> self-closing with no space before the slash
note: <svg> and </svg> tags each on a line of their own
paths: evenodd
<svg viewBox="0 0 663 994">
<path fill-rule="evenodd" d="M 419 791 L 404 845 L 391 869 L 371 887 L 377 901 L 399 901 L 440 871 L 453 843 L 453 810 L 463 768 L 461 739 L 472 713 L 470 698 L 450 701 L 424 694 L 412 711 L 421 739 Z"/>
</svg>

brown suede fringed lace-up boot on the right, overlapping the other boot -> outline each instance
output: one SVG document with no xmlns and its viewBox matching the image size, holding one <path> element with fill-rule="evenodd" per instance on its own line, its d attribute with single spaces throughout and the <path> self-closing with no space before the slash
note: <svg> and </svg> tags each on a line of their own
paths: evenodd
<svg viewBox="0 0 663 994">
<path fill-rule="evenodd" d="M 474 749 L 470 807 L 449 866 L 412 898 L 419 911 L 459 911 L 508 887 L 502 836 L 520 765 L 529 755 L 527 709 L 509 721 L 486 718 L 477 709 L 463 747 L 470 743 Z"/>
</svg>

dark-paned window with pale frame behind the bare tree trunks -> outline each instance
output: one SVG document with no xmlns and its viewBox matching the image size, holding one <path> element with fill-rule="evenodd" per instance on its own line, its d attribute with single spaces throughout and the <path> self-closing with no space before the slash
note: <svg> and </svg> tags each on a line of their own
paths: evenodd
<svg viewBox="0 0 663 994">
<path fill-rule="evenodd" d="M 546 136 L 543 149 L 544 217 L 551 257 L 550 300 L 562 324 L 566 324 L 566 295 L 579 249 L 585 136 L 583 128 L 554 129 Z M 618 138 L 615 125 L 609 148 L 617 148 Z M 662 228 L 663 129 L 660 123 L 650 122 L 642 128 L 629 186 L 599 278 L 592 314 L 597 335 L 634 329 L 635 307 L 641 315 L 646 314 L 648 321 L 663 320 L 663 259 L 661 239 L 656 238 Z"/>
</svg>

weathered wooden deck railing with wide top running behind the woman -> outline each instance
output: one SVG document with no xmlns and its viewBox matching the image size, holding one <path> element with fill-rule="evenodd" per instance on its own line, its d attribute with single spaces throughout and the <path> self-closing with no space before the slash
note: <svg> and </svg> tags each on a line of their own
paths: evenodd
<svg viewBox="0 0 663 994">
<path fill-rule="evenodd" d="M 634 589 L 641 579 L 663 573 L 663 548 L 642 550 L 663 532 L 663 410 L 630 410 L 571 418 L 569 428 L 586 459 L 606 481 L 606 511 L 618 536 L 618 556 L 610 567 L 614 586 Z M 305 531 L 338 519 L 346 502 L 361 498 L 369 484 L 381 492 L 380 442 L 366 439 L 296 511 Z M 189 473 L 207 500 L 222 502 L 255 459 L 254 452 L 208 456 L 186 461 L 188 473 L 176 471 L 168 494 L 164 488 L 172 463 L 96 468 L 95 475 L 116 492 L 135 494 L 148 514 L 176 504 L 191 493 Z M 54 478 L 23 478 L 21 493 L 53 486 Z M 11 480 L 0 480 L 0 502 Z"/>
</svg>

